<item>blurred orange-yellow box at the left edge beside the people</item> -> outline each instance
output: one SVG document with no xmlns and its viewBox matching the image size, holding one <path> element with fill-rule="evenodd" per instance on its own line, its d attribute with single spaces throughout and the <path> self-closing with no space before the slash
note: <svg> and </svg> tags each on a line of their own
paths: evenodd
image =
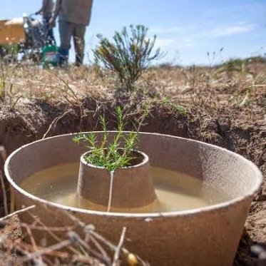
<svg viewBox="0 0 266 266">
<path fill-rule="evenodd" d="M 24 43 L 25 39 L 22 18 L 0 21 L 0 46 Z"/>
</svg>

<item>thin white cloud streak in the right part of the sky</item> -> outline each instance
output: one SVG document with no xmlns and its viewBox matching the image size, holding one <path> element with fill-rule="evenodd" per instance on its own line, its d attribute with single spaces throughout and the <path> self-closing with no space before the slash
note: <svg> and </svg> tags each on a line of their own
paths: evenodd
<svg viewBox="0 0 266 266">
<path fill-rule="evenodd" d="M 222 37 L 222 36 L 230 36 L 235 34 L 242 34 L 245 32 L 252 31 L 255 29 L 255 24 L 247 24 L 247 23 L 238 23 L 235 25 L 217 27 L 210 31 L 210 36 L 213 37 Z"/>
</svg>

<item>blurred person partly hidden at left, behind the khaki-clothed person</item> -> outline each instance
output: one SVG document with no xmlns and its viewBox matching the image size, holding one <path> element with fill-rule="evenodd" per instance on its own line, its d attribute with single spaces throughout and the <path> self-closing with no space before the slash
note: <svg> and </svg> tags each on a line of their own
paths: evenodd
<svg viewBox="0 0 266 266">
<path fill-rule="evenodd" d="M 44 21 L 44 25 L 45 25 L 45 31 L 46 31 L 46 43 L 47 44 L 56 44 L 56 40 L 54 39 L 53 36 L 53 27 L 51 27 L 49 25 L 49 21 L 53 15 L 53 0 L 43 0 L 43 4 L 41 6 L 41 9 L 39 11 L 37 11 L 35 14 L 39 15 L 42 14 L 43 15 L 43 21 Z"/>
</svg>

